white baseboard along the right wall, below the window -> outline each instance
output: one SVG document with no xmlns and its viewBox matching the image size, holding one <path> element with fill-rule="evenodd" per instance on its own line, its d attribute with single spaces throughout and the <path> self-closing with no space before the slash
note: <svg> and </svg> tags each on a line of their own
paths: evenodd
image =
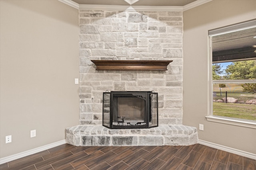
<svg viewBox="0 0 256 170">
<path fill-rule="evenodd" d="M 208 147 L 224 150 L 226 152 L 230 152 L 230 153 L 233 153 L 233 154 L 238 154 L 240 156 L 244 156 L 244 157 L 256 160 L 256 154 L 252 154 L 252 153 L 249 153 L 249 152 L 244 152 L 242 150 L 238 150 L 238 149 L 234 149 L 234 148 L 230 148 L 230 147 L 225 147 L 225 146 L 222 146 L 222 145 L 218 145 L 218 144 L 215 144 L 215 143 L 202 141 L 202 140 L 198 140 L 198 143 L 202 144 L 202 145 L 206 145 Z"/>
</svg>

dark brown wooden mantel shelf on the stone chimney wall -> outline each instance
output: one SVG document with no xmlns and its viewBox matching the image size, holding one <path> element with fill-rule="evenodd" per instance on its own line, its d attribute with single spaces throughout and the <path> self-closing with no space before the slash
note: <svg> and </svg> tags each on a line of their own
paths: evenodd
<svg viewBox="0 0 256 170">
<path fill-rule="evenodd" d="M 91 60 L 96 70 L 166 71 L 172 60 Z"/>
</svg>

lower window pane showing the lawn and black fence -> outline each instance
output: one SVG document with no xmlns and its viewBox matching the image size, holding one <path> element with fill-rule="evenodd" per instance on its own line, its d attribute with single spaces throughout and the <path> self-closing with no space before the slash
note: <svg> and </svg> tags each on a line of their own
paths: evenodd
<svg viewBox="0 0 256 170">
<path fill-rule="evenodd" d="M 213 84 L 213 115 L 256 121 L 256 83 Z"/>
</svg>

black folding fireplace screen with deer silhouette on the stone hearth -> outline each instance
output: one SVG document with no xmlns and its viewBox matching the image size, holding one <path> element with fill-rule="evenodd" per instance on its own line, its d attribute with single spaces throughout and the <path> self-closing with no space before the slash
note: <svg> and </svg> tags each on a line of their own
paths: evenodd
<svg viewBox="0 0 256 170">
<path fill-rule="evenodd" d="M 158 94 L 154 92 L 104 92 L 103 126 L 111 129 L 158 126 Z"/>
</svg>

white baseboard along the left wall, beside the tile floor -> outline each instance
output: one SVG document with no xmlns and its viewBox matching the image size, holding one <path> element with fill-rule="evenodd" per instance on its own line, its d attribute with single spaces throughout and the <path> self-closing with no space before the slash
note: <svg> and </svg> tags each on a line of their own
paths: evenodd
<svg viewBox="0 0 256 170">
<path fill-rule="evenodd" d="M 0 158 L 0 164 L 4 164 L 6 162 L 10 162 L 10 161 L 16 160 L 18 158 L 22 158 L 22 157 L 25 157 L 25 156 L 28 156 L 28 155 L 31 155 L 31 154 L 35 154 L 35 153 L 41 152 L 43 150 L 58 147 L 60 145 L 66 144 L 66 143 L 67 143 L 66 140 L 62 140 L 62 141 L 58 141 L 58 142 L 55 142 L 55 143 L 51 143 L 49 145 L 45 145 L 45 146 L 42 146 L 42 147 L 31 149 L 31 150 L 28 150 L 28 151 L 25 151 L 25 152 L 21 152 L 21 153 L 18 153 L 18 154 L 14 154 L 14 155 L 11 155 L 11 156 Z"/>
</svg>

